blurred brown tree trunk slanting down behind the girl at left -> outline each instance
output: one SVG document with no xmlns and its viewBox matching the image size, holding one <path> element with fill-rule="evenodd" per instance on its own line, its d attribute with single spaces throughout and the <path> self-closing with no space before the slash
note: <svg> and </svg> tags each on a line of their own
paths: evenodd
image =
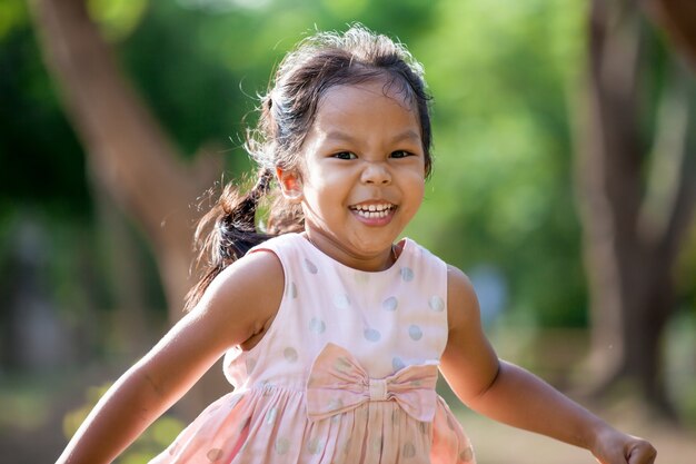
<svg viewBox="0 0 696 464">
<path fill-rule="evenodd" d="M 44 60 L 84 147 L 92 184 L 98 182 L 145 230 L 175 322 L 191 286 L 191 239 L 198 216 L 191 206 L 219 176 L 221 160 L 199 157 L 193 165 L 185 162 L 123 78 L 113 50 L 89 19 L 84 0 L 32 0 L 31 6 Z M 219 381 L 202 385 L 187 395 L 186 415 L 221 389 Z"/>
</svg>

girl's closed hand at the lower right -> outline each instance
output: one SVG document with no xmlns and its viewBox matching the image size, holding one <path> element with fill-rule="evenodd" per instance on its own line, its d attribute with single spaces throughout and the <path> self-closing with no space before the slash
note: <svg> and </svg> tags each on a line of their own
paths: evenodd
<svg viewBox="0 0 696 464">
<path fill-rule="evenodd" d="M 601 464 L 653 464 L 657 451 L 643 438 L 607 427 L 597 435 L 593 454 Z"/>
</svg>

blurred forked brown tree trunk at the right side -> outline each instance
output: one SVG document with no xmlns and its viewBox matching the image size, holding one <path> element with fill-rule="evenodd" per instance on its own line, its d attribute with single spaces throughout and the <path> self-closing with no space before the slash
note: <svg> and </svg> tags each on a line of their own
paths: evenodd
<svg viewBox="0 0 696 464">
<path fill-rule="evenodd" d="M 696 18 L 689 21 L 696 30 Z M 591 2 L 577 178 L 596 388 L 628 381 L 652 406 L 670 413 L 660 343 L 675 308 L 673 269 L 695 196 L 687 167 L 689 82 L 675 65 L 646 149 L 638 98 L 644 27 L 636 2 Z"/>
</svg>

